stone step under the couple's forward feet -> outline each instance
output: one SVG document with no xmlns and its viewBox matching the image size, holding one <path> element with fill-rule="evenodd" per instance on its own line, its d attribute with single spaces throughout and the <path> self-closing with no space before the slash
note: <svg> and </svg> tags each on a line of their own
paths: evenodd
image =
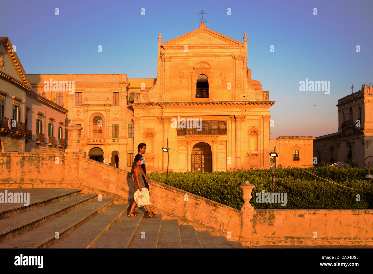
<svg viewBox="0 0 373 274">
<path fill-rule="evenodd" d="M 161 222 L 161 214 L 157 214 L 157 218 L 143 217 L 131 239 L 131 242 L 129 242 L 128 248 L 157 248 Z"/>
</svg>

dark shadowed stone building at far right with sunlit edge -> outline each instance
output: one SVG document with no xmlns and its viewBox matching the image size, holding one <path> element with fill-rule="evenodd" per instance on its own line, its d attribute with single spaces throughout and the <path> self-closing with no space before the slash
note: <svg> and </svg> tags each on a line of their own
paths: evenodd
<svg viewBox="0 0 373 274">
<path fill-rule="evenodd" d="M 365 158 L 373 156 L 372 102 L 372 84 L 364 84 L 359 91 L 338 100 L 338 132 L 319 136 L 313 141 L 313 157 L 317 157 L 315 166 L 342 162 L 352 167 L 366 167 Z"/>
</svg>

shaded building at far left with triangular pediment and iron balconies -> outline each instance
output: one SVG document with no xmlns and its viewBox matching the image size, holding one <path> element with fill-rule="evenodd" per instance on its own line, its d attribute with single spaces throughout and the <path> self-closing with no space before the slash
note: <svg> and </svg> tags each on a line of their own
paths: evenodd
<svg viewBox="0 0 373 274">
<path fill-rule="evenodd" d="M 0 37 L 0 151 L 64 151 L 68 111 L 31 89 L 15 47 Z"/>
</svg>

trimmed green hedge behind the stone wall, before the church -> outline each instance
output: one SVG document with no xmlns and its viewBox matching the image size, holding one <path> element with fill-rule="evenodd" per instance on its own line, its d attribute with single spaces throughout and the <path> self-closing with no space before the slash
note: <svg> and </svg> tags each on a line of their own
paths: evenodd
<svg viewBox="0 0 373 274">
<path fill-rule="evenodd" d="M 327 182 L 299 168 L 275 169 L 273 192 L 286 193 L 286 205 L 256 202 L 256 193 L 272 192 L 272 170 L 170 172 L 168 184 L 236 209 L 244 202 L 239 185 L 245 181 L 256 186 L 250 201 L 255 209 L 373 209 L 373 182 L 365 178 L 367 169 L 324 166 L 305 170 L 353 189 Z M 147 176 L 166 183 L 166 173 L 149 173 Z M 360 201 L 356 201 L 357 195 L 360 195 Z"/>
</svg>

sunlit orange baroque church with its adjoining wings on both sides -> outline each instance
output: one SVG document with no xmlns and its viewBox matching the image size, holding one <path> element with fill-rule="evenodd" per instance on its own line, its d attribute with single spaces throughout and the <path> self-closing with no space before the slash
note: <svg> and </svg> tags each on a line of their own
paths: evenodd
<svg viewBox="0 0 373 274">
<path fill-rule="evenodd" d="M 267 169 L 275 147 L 276 166 L 313 166 L 312 136 L 270 139 L 275 101 L 260 81 L 251 79 L 247 39 L 246 33 L 240 42 L 200 23 L 166 42 L 159 34 L 155 79 L 127 74 L 27 77 L 40 100 L 68 110 L 65 126 L 82 127 L 78 145 L 87 157 L 120 169 L 131 169 L 140 143 L 147 145 L 147 172 L 166 171 L 167 163 L 174 172 Z M 73 82 L 75 89 L 48 88 L 55 81 Z M 201 125 L 175 127 L 175 119 Z M 169 155 L 162 151 L 167 141 Z"/>
</svg>

